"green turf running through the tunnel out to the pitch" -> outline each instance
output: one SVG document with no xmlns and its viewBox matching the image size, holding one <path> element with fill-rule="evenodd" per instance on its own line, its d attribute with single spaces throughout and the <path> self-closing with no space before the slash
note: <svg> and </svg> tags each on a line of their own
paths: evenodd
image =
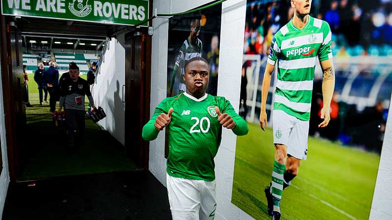
<svg viewBox="0 0 392 220">
<path fill-rule="evenodd" d="M 131 159 L 125 157 L 124 147 L 87 117 L 86 141 L 70 154 L 66 149 L 65 127 L 54 126 L 49 113 L 49 103 L 39 105 L 33 74 L 29 75 L 29 79 L 30 103 L 33 107 L 26 109 L 25 137 L 28 142 L 22 152 L 26 156 L 26 166 L 21 180 L 109 173 L 137 168 Z M 88 101 L 86 107 L 87 104 Z"/>
</svg>

